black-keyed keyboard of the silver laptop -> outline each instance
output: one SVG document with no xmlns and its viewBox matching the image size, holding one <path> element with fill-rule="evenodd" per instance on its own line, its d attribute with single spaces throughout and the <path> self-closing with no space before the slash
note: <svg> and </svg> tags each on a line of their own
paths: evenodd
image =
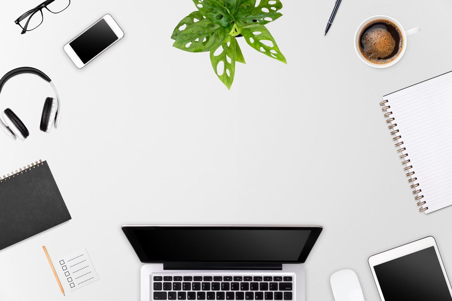
<svg viewBox="0 0 452 301">
<path fill-rule="evenodd" d="M 152 276 L 153 300 L 292 300 L 292 276 Z"/>
</svg>

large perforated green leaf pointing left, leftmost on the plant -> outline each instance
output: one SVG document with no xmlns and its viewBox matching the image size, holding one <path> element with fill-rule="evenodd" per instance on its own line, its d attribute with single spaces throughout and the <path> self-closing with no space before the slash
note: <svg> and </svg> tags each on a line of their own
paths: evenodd
<svg viewBox="0 0 452 301">
<path fill-rule="evenodd" d="M 211 51 L 229 37 L 228 33 L 228 28 L 221 27 L 210 19 L 202 19 L 180 32 L 173 46 L 188 52 Z"/>
</svg>

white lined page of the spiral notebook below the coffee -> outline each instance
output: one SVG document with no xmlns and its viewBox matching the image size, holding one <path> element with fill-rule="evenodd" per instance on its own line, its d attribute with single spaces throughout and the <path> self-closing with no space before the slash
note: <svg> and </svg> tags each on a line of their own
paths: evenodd
<svg viewBox="0 0 452 301">
<path fill-rule="evenodd" d="M 414 172 L 407 179 L 417 178 L 413 188 L 414 204 L 420 210 L 431 213 L 452 205 L 452 72 L 428 79 L 422 83 L 388 94 L 383 97 L 394 118 L 391 129 L 401 136 L 394 143 L 403 142 L 398 153 L 408 154 L 401 161 L 410 160 L 403 167 L 405 173 Z M 416 190 L 421 190 L 416 193 Z M 421 198 L 421 196 L 423 196 Z M 425 202 L 425 204 L 424 204 Z"/>
</svg>

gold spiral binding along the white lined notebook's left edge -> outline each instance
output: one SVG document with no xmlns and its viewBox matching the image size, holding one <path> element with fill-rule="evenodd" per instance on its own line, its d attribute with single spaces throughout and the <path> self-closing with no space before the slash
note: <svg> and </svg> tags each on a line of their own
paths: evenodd
<svg viewBox="0 0 452 301">
<path fill-rule="evenodd" d="M 392 115 L 392 111 L 388 111 L 388 110 L 391 108 L 391 106 L 388 104 L 388 102 L 389 102 L 389 101 L 388 101 L 387 99 L 385 99 L 385 100 L 383 100 L 382 102 L 380 102 L 380 106 L 382 107 L 382 108 L 381 108 L 381 111 L 386 112 L 386 113 L 384 113 L 385 118 L 388 118 L 390 115 Z M 394 120 L 395 120 L 395 117 L 388 118 L 388 119 L 386 119 L 386 123 L 390 123 L 390 125 L 388 125 L 388 129 L 391 130 L 391 133 L 390 133 L 390 134 L 391 134 L 391 135 L 394 135 L 394 137 L 392 137 L 392 141 L 396 141 L 396 142 L 397 142 L 397 143 L 394 144 L 394 146 L 398 148 L 398 149 L 397 149 L 397 153 L 401 153 L 401 152 L 406 151 L 406 148 L 400 147 L 400 146 L 401 146 L 402 144 L 404 144 L 404 143 L 403 143 L 403 141 L 400 141 L 400 139 L 402 139 L 402 136 L 401 136 L 400 134 L 398 134 L 398 133 L 400 133 L 400 131 L 399 131 L 398 129 L 395 129 L 395 127 L 397 126 L 397 124 L 396 124 L 396 123 L 393 123 Z M 413 177 L 414 171 L 410 171 L 410 169 L 413 168 L 413 165 L 408 165 L 408 163 L 411 162 L 411 160 L 408 158 L 408 153 L 402 153 L 402 154 L 400 154 L 399 158 L 400 158 L 400 159 L 403 159 L 403 161 L 401 162 L 402 165 L 407 165 L 407 166 L 405 166 L 405 167 L 403 168 L 403 170 L 404 170 L 404 171 L 408 171 L 408 172 L 405 174 L 405 176 L 410 177 L 410 179 L 408 179 L 408 183 L 413 183 L 414 181 L 417 180 L 417 177 Z M 413 184 L 410 185 L 410 187 L 411 187 L 411 188 L 419 187 L 419 183 L 413 183 Z M 415 199 L 416 201 L 419 200 L 419 199 L 424 198 L 424 195 L 419 195 L 420 192 L 422 192 L 421 189 L 415 189 L 415 190 L 413 190 L 413 192 L 412 192 L 413 194 L 418 194 L 418 195 L 416 195 L 416 196 L 414 197 L 414 199 Z M 425 201 L 417 202 L 417 205 L 418 205 L 418 206 L 422 206 L 422 205 L 424 205 L 424 204 L 426 204 Z M 424 212 L 424 211 L 427 210 L 427 209 L 428 209 L 428 207 L 423 207 L 423 208 L 419 208 L 419 211 L 420 211 L 420 212 Z"/>
</svg>

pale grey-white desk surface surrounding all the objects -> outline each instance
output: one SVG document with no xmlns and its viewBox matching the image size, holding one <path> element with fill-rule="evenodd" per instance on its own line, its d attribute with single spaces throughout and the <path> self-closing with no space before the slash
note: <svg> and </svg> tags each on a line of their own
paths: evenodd
<svg viewBox="0 0 452 301">
<path fill-rule="evenodd" d="M 99 275 L 65 300 L 139 300 L 141 263 L 124 224 L 322 225 L 305 264 L 308 301 L 334 300 L 330 276 L 345 268 L 366 301 L 380 300 L 367 258 L 428 235 L 452 273 L 452 208 L 418 212 L 379 106 L 382 95 L 452 69 L 452 2 L 344 0 L 325 37 L 334 0 L 283 0 L 268 28 L 288 64 L 239 39 L 247 65 L 237 65 L 231 91 L 207 53 L 172 47 L 191 0 L 72 1 L 20 35 L 14 19 L 38 2 L 2 4 L 0 73 L 47 73 L 61 93 L 61 126 L 38 129 L 47 83 L 11 79 L 1 109 L 30 136 L 0 135 L 0 172 L 47 160 L 72 220 L 0 251 L 1 300 L 63 299 L 42 245 L 54 259 L 86 248 Z M 125 37 L 77 69 L 63 45 L 106 13 Z M 422 27 L 389 69 L 364 65 L 353 49 L 357 26 L 375 14 Z"/>
</svg>

